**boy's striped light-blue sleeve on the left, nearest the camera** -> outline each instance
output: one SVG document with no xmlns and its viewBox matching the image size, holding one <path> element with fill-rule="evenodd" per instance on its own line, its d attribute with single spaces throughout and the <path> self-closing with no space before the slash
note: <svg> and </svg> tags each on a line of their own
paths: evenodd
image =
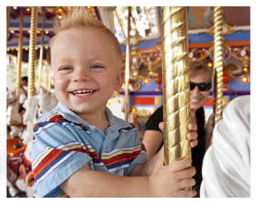
<svg viewBox="0 0 256 202">
<path fill-rule="evenodd" d="M 37 197 L 56 197 L 60 184 L 92 159 L 72 125 L 37 123 L 33 128 L 32 169 Z"/>
</svg>

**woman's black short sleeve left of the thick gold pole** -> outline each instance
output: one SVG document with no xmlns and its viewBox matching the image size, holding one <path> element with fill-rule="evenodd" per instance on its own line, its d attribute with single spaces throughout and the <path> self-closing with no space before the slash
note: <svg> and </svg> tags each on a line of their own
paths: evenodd
<svg viewBox="0 0 256 202">
<path fill-rule="evenodd" d="M 163 121 L 163 106 L 156 109 L 156 111 L 150 116 L 149 120 L 146 122 L 145 130 L 157 130 L 161 131 L 159 128 L 159 123 Z"/>
</svg>

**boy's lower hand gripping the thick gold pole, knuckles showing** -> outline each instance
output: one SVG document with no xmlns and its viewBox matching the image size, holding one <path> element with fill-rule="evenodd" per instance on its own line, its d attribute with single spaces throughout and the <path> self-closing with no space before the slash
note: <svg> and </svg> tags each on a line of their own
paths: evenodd
<svg viewBox="0 0 256 202">
<path fill-rule="evenodd" d="M 192 178 L 196 174 L 194 167 L 188 167 L 192 160 L 186 158 L 168 166 L 163 165 L 164 156 L 156 162 L 151 176 L 149 187 L 155 197 L 193 197 L 196 191 L 185 191 L 186 187 L 193 186 L 196 181 Z"/>
</svg>

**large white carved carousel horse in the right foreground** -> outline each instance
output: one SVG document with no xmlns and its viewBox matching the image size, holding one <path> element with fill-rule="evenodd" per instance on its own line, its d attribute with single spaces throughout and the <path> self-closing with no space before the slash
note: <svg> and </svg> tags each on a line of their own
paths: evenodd
<svg viewBox="0 0 256 202">
<path fill-rule="evenodd" d="M 202 170 L 201 197 L 250 197 L 250 96 L 224 109 Z"/>
</svg>

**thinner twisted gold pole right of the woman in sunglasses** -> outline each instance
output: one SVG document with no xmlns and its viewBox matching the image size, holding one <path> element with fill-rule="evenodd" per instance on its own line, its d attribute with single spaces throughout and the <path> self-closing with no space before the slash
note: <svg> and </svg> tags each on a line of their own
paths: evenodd
<svg viewBox="0 0 256 202">
<path fill-rule="evenodd" d="M 213 55 L 213 126 L 220 120 L 223 103 L 223 7 L 214 6 L 214 55 Z"/>
</svg>

